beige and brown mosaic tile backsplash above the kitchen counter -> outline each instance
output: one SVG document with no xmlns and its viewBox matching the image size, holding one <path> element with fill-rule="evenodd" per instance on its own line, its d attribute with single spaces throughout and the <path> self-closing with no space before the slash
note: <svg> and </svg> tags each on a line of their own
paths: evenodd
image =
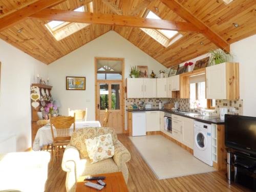
<svg viewBox="0 0 256 192">
<path fill-rule="evenodd" d="M 179 102 L 180 110 L 183 111 L 191 111 L 191 112 L 200 112 L 198 109 L 190 109 L 189 99 L 174 99 L 174 98 L 143 98 L 143 99 L 126 99 L 125 102 L 125 109 L 133 102 L 138 105 L 139 101 L 144 101 L 144 103 L 152 104 L 153 109 L 158 108 L 158 103 L 162 102 L 163 104 L 166 102 L 175 103 L 176 101 Z M 215 108 L 215 115 L 220 115 L 220 108 L 227 108 L 228 114 L 235 114 L 235 115 L 243 115 L 243 100 L 216 100 L 216 108 Z M 234 108 L 234 111 L 232 109 Z"/>
</svg>

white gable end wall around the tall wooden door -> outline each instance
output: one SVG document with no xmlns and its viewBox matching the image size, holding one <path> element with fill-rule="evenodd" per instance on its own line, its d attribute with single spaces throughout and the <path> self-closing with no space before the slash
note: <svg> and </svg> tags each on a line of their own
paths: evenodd
<svg viewBox="0 0 256 192">
<path fill-rule="evenodd" d="M 61 103 L 61 114 L 67 115 L 68 108 L 88 108 L 88 120 L 95 119 L 95 57 L 124 58 L 125 78 L 129 76 L 131 66 L 148 66 L 148 73 L 154 70 L 158 75 L 159 70 L 166 69 L 116 32 L 108 32 L 49 65 L 52 94 Z M 67 91 L 66 76 L 85 76 L 86 91 Z"/>
</svg>

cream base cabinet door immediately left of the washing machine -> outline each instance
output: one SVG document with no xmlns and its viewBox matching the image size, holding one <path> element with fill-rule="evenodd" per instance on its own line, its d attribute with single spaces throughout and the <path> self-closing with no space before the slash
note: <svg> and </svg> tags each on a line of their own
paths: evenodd
<svg viewBox="0 0 256 192">
<path fill-rule="evenodd" d="M 189 148 L 194 147 L 194 120 L 183 117 L 182 121 L 182 143 Z"/>
</svg>

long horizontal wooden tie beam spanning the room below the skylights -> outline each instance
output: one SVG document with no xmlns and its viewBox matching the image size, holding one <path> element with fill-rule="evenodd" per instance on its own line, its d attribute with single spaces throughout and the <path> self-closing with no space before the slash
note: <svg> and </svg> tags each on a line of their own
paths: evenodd
<svg viewBox="0 0 256 192">
<path fill-rule="evenodd" d="M 42 20 L 59 20 L 62 22 L 116 25 L 148 29 L 165 29 L 174 31 L 201 32 L 197 27 L 186 22 L 147 19 L 142 17 L 110 15 L 101 13 L 75 12 L 57 9 L 44 9 L 30 16 Z"/>
</svg>

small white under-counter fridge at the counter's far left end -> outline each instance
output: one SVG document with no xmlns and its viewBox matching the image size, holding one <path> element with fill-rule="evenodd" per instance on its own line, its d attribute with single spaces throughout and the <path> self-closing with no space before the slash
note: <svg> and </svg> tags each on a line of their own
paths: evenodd
<svg viewBox="0 0 256 192">
<path fill-rule="evenodd" d="M 146 135 L 146 113 L 133 112 L 133 136 Z"/>
</svg>

